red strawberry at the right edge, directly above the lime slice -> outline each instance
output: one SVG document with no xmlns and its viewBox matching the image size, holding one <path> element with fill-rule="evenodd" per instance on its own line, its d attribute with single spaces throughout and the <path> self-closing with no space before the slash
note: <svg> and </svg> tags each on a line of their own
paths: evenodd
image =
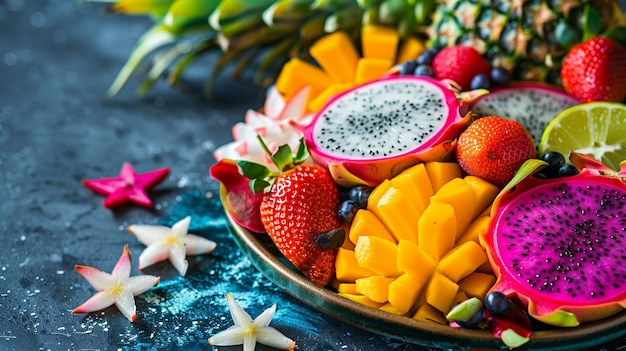
<svg viewBox="0 0 626 351">
<path fill-rule="evenodd" d="M 603 37 L 575 46 L 561 67 L 563 86 L 582 102 L 626 98 L 626 49 Z"/>
</svg>

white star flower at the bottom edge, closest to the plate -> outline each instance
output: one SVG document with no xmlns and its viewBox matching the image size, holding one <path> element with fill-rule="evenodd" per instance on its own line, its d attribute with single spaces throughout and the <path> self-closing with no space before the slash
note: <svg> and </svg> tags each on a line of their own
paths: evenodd
<svg viewBox="0 0 626 351">
<path fill-rule="evenodd" d="M 257 342 L 281 350 L 296 348 L 293 340 L 268 326 L 276 312 L 276 304 L 252 320 L 252 317 L 239 306 L 232 295 L 226 294 L 226 299 L 235 325 L 209 338 L 210 345 L 243 345 L 243 351 L 254 351 Z"/>
</svg>

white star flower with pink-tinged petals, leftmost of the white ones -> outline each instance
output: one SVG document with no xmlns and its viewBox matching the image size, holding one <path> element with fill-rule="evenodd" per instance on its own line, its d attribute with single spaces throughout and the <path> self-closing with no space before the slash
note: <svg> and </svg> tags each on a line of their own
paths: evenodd
<svg viewBox="0 0 626 351">
<path fill-rule="evenodd" d="M 130 252 L 124 246 L 122 256 L 115 264 L 111 274 L 93 267 L 76 266 L 78 274 L 83 276 L 98 292 L 72 313 L 89 313 L 103 310 L 113 304 L 131 322 L 137 319 L 135 298 L 159 283 L 159 277 L 140 275 L 130 277 Z"/>
</svg>

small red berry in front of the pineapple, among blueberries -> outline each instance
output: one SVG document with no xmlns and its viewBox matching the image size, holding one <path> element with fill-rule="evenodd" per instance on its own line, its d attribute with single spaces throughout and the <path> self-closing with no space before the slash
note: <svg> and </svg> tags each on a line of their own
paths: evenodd
<svg viewBox="0 0 626 351">
<path fill-rule="evenodd" d="M 445 47 L 433 60 L 433 71 L 437 79 L 451 79 L 463 90 L 469 90 L 472 79 L 478 74 L 489 76 L 491 67 L 476 49 L 457 45 Z"/>
</svg>

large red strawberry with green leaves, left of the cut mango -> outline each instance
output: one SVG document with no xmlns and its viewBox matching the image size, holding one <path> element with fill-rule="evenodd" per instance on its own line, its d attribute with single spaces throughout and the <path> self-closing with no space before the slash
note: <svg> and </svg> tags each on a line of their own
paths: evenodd
<svg viewBox="0 0 626 351">
<path fill-rule="evenodd" d="M 280 252 L 316 285 L 327 285 L 335 274 L 338 246 L 345 230 L 338 218 L 339 191 L 330 173 L 318 165 L 299 164 L 308 157 L 302 144 L 296 160 L 287 145 L 272 155 L 278 175 L 240 161 L 256 190 L 267 189 L 261 202 L 261 221 Z M 274 178 L 273 184 L 263 180 Z M 273 176 L 273 177 L 272 177 Z M 322 235 L 337 235 L 334 245 L 321 247 Z M 320 242 L 320 244 L 318 244 Z M 339 244 L 337 244 L 339 243 Z"/>
</svg>

